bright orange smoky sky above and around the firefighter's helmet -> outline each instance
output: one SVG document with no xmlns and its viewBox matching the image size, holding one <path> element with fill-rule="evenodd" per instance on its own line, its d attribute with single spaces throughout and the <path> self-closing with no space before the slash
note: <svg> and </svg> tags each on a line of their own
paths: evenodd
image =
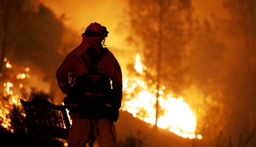
<svg viewBox="0 0 256 147">
<path fill-rule="evenodd" d="M 124 0 L 38 0 L 60 18 L 65 14 L 64 24 L 80 36 L 92 22 L 107 27 L 110 32 L 106 45 L 123 49 L 125 35 L 118 31 L 125 7 Z"/>
</svg>

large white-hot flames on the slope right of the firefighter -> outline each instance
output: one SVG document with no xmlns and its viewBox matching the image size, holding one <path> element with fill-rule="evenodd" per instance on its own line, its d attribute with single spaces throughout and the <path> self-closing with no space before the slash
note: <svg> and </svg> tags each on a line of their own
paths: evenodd
<svg viewBox="0 0 256 147">
<path fill-rule="evenodd" d="M 142 71 L 142 64 L 139 63 L 139 55 L 136 55 L 136 71 Z M 145 69 L 144 69 L 145 70 Z M 152 84 L 148 86 L 147 83 Z M 127 78 L 123 82 L 125 97 L 122 103 L 122 110 L 132 114 L 141 121 L 155 125 L 156 123 L 156 93 L 159 93 L 159 109 L 163 113 L 159 116 L 157 126 L 168 129 L 178 136 L 189 139 L 202 139 L 202 135 L 195 135 L 196 118 L 184 102 L 182 97 L 175 98 L 171 94 L 165 94 L 165 86 L 156 89 L 158 82 L 150 79 L 147 82 L 141 78 Z"/>
</svg>

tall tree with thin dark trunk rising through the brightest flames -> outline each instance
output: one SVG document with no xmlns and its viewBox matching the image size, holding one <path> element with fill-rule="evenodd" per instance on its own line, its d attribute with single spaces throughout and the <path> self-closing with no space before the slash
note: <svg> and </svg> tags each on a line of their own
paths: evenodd
<svg viewBox="0 0 256 147">
<path fill-rule="evenodd" d="M 186 44 L 189 42 L 191 19 L 190 0 L 129 0 L 128 15 L 131 29 L 129 40 L 142 41 L 143 62 L 149 78 L 179 93 L 185 85 Z M 156 93 L 156 97 L 159 97 Z M 159 116 L 156 101 L 156 122 Z"/>
</svg>

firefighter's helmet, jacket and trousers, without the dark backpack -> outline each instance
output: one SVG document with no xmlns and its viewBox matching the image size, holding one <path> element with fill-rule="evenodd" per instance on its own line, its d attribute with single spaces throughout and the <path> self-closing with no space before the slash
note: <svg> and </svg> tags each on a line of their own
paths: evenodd
<svg viewBox="0 0 256 147">
<path fill-rule="evenodd" d="M 79 107 L 79 94 L 74 90 L 70 82 L 68 82 L 68 74 L 72 73 L 74 79 L 90 72 L 89 64 L 85 64 L 87 60 L 86 51 L 90 48 L 96 49 L 102 54 L 100 61 L 94 67 L 100 74 L 106 75 L 112 81 L 112 103 L 106 104 L 111 107 L 111 114 L 107 118 L 86 119 L 79 117 L 79 108 L 77 111 L 70 111 L 72 126 L 68 133 L 68 143 L 70 147 L 84 147 L 89 141 L 90 133 L 95 136 L 100 147 L 116 147 L 117 136 L 115 132 L 115 124 L 119 116 L 119 109 L 122 100 L 122 73 L 118 61 L 114 55 L 103 48 L 105 38 L 108 36 L 106 27 L 97 22 L 91 23 L 82 33 L 82 42 L 74 50 L 72 50 L 64 59 L 63 63 L 57 69 L 56 78 L 58 86 L 64 94 L 67 94 L 69 100 L 67 103 L 73 103 Z M 106 51 L 107 50 L 107 51 Z M 76 84 L 75 84 L 76 85 Z M 75 94 L 74 94 L 75 93 Z M 79 97 L 79 98 L 78 98 Z M 65 100 L 64 100 L 65 103 Z M 66 104 L 65 104 L 66 105 Z"/>
</svg>

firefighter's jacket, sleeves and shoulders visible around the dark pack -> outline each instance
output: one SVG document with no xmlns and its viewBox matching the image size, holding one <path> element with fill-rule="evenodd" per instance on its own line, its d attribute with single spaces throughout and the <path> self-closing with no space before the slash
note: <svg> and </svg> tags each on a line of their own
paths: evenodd
<svg viewBox="0 0 256 147">
<path fill-rule="evenodd" d="M 63 93 L 67 94 L 72 88 L 68 83 L 68 73 L 72 72 L 74 78 L 78 78 L 78 76 L 89 72 L 89 66 L 81 62 L 81 55 L 86 50 L 87 48 L 81 45 L 78 46 L 65 57 L 63 63 L 57 69 L 56 78 Z M 107 49 L 104 48 L 104 50 Z M 122 101 L 122 72 L 118 61 L 110 51 L 107 51 L 95 67 L 98 69 L 98 73 L 102 73 L 112 80 L 113 97 L 115 99 L 113 108 L 119 110 Z"/>
</svg>

